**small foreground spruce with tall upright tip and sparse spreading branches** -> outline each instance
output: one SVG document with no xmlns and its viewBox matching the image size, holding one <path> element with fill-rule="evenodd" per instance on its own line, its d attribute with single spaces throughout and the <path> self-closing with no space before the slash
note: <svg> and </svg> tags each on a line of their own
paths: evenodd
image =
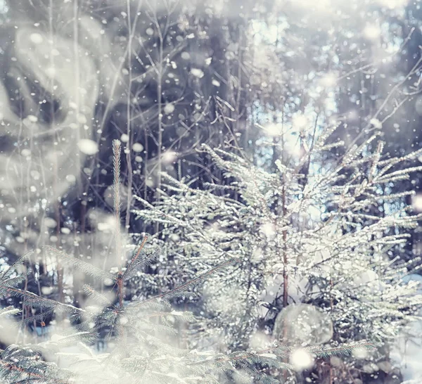
<svg viewBox="0 0 422 384">
<path fill-rule="evenodd" d="M 120 143 L 113 143 L 115 151 L 115 217 L 120 223 Z M 116 233 L 116 241 L 120 236 Z M 25 274 L 18 267 L 29 260 L 32 252 L 23 256 L 0 274 L 0 295 L 20 297 L 25 305 L 33 309 L 33 316 L 25 324 L 44 324 L 46 316 L 61 314 L 64 319 L 58 332 L 49 340 L 18 345 L 11 339 L 2 341 L 8 345 L 0 350 L 0 378 L 2 383 L 277 383 L 274 372 L 293 370 L 286 363 L 292 348 L 269 343 L 264 349 L 218 354 L 186 350 L 179 346 L 172 335 L 177 333 L 174 324 L 178 320 L 193 320 L 191 312 L 172 309 L 170 300 L 190 296 L 191 288 L 203 283 L 237 264 L 238 260 L 226 257 L 224 262 L 209 267 L 193 279 L 153 297 L 132 297 L 124 300 L 128 281 L 159 255 L 158 250 L 148 252 L 146 238 L 117 273 L 103 271 L 76 257 L 53 247 L 44 247 L 44 252 L 55 255 L 63 263 L 71 264 L 98 281 L 101 291 L 85 285 L 84 292 L 91 302 L 83 308 L 41 297 L 18 288 L 25 281 Z M 117 264 L 122 264 L 124 252 L 117 255 Z M 110 295 L 103 292 L 111 286 Z M 18 338 L 19 328 L 13 316 L 19 312 L 13 307 L 0 311 L 0 329 Z M 7 330 L 7 331 L 5 331 Z M 4 332 L 3 332 L 4 331 Z M 108 348 L 103 353 L 93 347 L 94 340 L 104 335 Z M 36 340 L 35 340 L 36 341 Z M 361 343 L 340 348 L 307 348 L 314 357 L 350 354 L 355 348 L 372 347 Z M 64 363 L 63 363 L 64 362 Z"/>
</svg>

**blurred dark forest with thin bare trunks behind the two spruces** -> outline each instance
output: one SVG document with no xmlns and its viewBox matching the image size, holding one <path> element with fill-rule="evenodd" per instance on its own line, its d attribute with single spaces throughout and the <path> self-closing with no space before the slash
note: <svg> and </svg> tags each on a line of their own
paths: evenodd
<svg viewBox="0 0 422 384">
<path fill-rule="evenodd" d="M 421 149 L 421 48 L 418 0 L 0 0 L 0 270 L 34 249 L 25 289 L 83 305 L 87 279 L 41 245 L 117 267 L 112 141 L 120 139 L 123 245 L 130 250 L 148 233 L 147 248 L 163 248 L 133 279 L 126 300 L 174 287 L 203 267 L 186 266 L 180 233 L 136 214 L 144 203 L 135 196 L 160 201 L 168 192 L 163 172 L 200 190 L 230 185 L 234 179 L 224 177 L 203 144 L 267 172 L 276 172 L 280 158 L 295 163 L 327 126 L 338 127 L 330 142 L 346 147 L 376 132 L 385 158 Z M 316 165 L 300 163 L 302 181 L 342 151 L 333 146 Z M 422 212 L 418 169 L 388 188 L 397 199 L 371 215 L 404 205 Z M 409 190 L 415 194 L 400 195 Z M 236 191 L 230 196 L 241 200 Z M 319 220 L 323 213 L 312 215 Z M 407 233 L 399 257 L 412 262 L 422 256 L 421 231 Z M 219 348 L 250 346 L 249 333 L 271 332 L 276 314 L 294 302 L 287 293 L 257 297 L 274 313 L 260 312 L 249 328 L 229 331 Z M 200 300 L 188 301 L 174 305 L 204 314 Z M 33 315 L 25 300 L 15 305 L 23 319 Z M 212 326 L 224 328 L 218 311 L 210 313 Z M 51 321 L 34 321 L 23 338 L 45 338 Z M 186 328 L 186 340 L 197 331 Z M 200 345 L 194 337 L 189 343 Z M 346 382 L 322 371 L 316 382 Z M 392 365 L 375 376 L 361 372 L 368 374 L 361 373 L 361 383 L 402 382 Z"/>
</svg>

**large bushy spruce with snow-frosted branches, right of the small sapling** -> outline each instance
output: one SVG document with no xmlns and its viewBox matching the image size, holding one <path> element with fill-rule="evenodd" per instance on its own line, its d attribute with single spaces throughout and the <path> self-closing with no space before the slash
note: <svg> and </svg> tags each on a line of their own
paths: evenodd
<svg viewBox="0 0 422 384">
<path fill-rule="evenodd" d="M 283 140 L 265 143 L 262 153 L 276 158 L 272 169 L 242 151 L 203 146 L 222 170 L 222 183 L 200 190 L 163 174 L 167 186 L 158 203 L 138 198 L 144 209 L 136 215 L 161 224 L 155 237 L 172 268 L 186 271 L 184 279 L 227 257 L 239 260 L 200 290 L 202 345 L 204 338 L 228 350 L 268 338 L 293 345 L 388 343 L 416 319 L 422 297 L 416 283 L 402 281 L 412 266 L 400 252 L 406 229 L 422 216 L 404 203 L 412 192 L 392 193 L 392 186 L 422 170 L 409 166 L 422 150 L 388 157 L 376 132 L 333 158 L 327 153 L 344 146 L 329 143 L 334 130 L 314 133 L 307 150 L 289 161 Z M 371 361 L 386 354 L 379 350 L 366 365 L 349 360 L 338 380 L 352 380 L 340 371 L 359 364 L 373 370 Z"/>
</svg>

